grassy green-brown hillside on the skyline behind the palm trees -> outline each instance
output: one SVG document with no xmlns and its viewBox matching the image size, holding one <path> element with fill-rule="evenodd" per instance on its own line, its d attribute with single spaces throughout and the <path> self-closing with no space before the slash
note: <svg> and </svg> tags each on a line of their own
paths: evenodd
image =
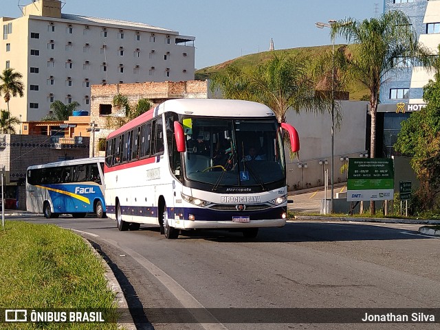
<svg viewBox="0 0 440 330">
<path fill-rule="evenodd" d="M 335 45 L 335 47 L 342 47 L 344 45 Z M 350 46 L 349 46 L 350 48 Z M 206 67 L 203 69 L 199 69 L 195 71 L 195 80 L 206 80 L 210 78 L 210 76 L 217 72 L 225 71 L 225 68 L 230 64 L 234 64 L 238 67 L 255 67 L 256 65 L 267 61 L 272 57 L 274 53 L 277 52 L 286 52 L 287 54 L 298 54 L 301 52 L 305 52 L 309 54 L 309 56 L 318 56 L 318 54 L 324 51 L 331 51 L 331 45 L 326 46 L 314 46 L 314 47 L 298 47 L 291 49 L 280 49 L 275 51 L 263 51 L 257 54 L 249 54 L 245 56 L 240 56 L 239 58 L 234 58 L 233 60 L 228 60 L 226 62 L 212 65 L 211 67 Z M 349 86 L 350 99 L 353 101 L 360 100 L 364 95 L 368 95 L 369 91 L 362 84 L 353 84 Z"/>
</svg>

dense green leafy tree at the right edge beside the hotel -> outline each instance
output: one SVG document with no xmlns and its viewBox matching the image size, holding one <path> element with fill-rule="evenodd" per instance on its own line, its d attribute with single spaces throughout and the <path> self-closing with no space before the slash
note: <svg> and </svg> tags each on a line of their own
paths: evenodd
<svg viewBox="0 0 440 330">
<path fill-rule="evenodd" d="M 439 47 L 440 51 L 440 47 Z M 415 195 L 419 211 L 438 209 L 440 192 L 440 59 L 434 63 L 434 80 L 423 87 L 426 107 L 401 123 L 395 150 L 412 156 L 411 167 L 421 185 Z"/>
</svg>

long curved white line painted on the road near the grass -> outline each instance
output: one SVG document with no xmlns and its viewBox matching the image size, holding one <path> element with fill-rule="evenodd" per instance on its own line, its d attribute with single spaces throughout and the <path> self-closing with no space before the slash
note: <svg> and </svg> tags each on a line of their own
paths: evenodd
<svg viewBox="0 0 440 330">
<path fill-rule="evenodd" d="M 185 308 L 205 309 L 205 307 L 201 305 L 201 303 L 199 303 L 199 300 L 197 300 L 194 296 L 192 296 L 192 294 L 186 291 L 184 287 L 182 287 L 179 283 L 177 283 L 171 276 L 169 276 L 168 274 L 166 274 L 166 272 L 155 266 L 155 264 L 149 261 L 148 259 L 142 257 L 142 255 L 140 255 L 139 253 L 135 252 L 135 250 L 132 250 L 131 248 L 126 248 L 124 246 L 120 246 L 118 242 L 113 241 L 112 239 L 105 239 L 105 241 L 108 241 L 111 245 L 120 248 L 121 250 L 126 252 L 126 254 L 133 257 L 135 261 L 140 263 L 140 265 L 142 265 L 146 270 L 148 270 L 148 272 L 150 272 L 153 276 L 155 276 L 155 278 L 159 280 L 168 289 L 168 291 L 171 294 L 173 294 L 173 296 L 175 296 L 177 300 L 179 300 L 181 305 L 183 305 Z M 196 320 L 199 320 L 199 316 L 197 313 L 193 314 L 191 311 L 190 313 Z M 227 327 L 221 324 L 221 322 L 219 322 L 217 318 L 212 316 L 212 314 L 210 314 L 210 312 L 206 310 L 205 315 L 203 316 L 203 320 L 206 320 L 207 318 L 212 319 L 212 322 L 199 323 L 201 327 L 203 327 L 204 329 L 228 330 Z"/>
</svg>

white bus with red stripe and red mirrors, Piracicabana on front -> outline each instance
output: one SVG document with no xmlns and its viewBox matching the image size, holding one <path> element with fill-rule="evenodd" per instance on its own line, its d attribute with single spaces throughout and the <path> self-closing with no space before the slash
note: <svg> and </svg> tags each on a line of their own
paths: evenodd
<svg viewBox="0 0 440 330">
<path fill-rule="evenodd" d="M 172 99 L 107 137 L 107 216 L 120 231 L 156 224 L 180 230 L 227 229 L 256 237 L 287 217 L 282 129 L 296 130 L 263 104 Z"/>
</svg>

